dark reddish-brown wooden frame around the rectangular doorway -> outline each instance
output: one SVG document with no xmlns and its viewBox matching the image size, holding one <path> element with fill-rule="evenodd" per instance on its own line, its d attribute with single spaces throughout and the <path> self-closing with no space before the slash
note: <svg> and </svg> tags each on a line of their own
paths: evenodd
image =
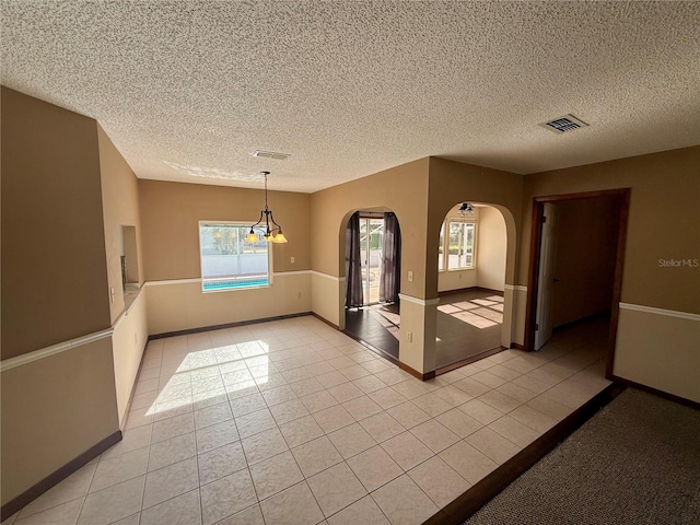
<svg viewBox="0 0 700 525">
<path fill-rule="evenodd" d="M 533 214 L 530 223 L 529 264 L 527 275 L 527 303 L 525 307 L 525 351 L 532 352 L 535 348 L 535 323 L 537 317 L 537 291 L 539 287 L 539 249 L 541 244 L 541 218 L 545 202 L 557 202 L 574 199 L 594 199 L 618 195 L 620 197 L 619 230 L 617 240 L 617 254 L 615 261 L 615 279 L 612 282 L 612 304 L 610 305 L 610 326 L 608 331 L 607 360 L 605 366 L 606 378 L 612 377 L 612 363 L 615 358 L 615 340 L 617 336 L 617 323 L 620 314 L 620 292 L 622 289 L 622 270 L 625 266 L 625 245 L 627 241 L 627 224 L 629 218 L 631 188 L 604 189 L 579 194 L 549 195 L 533 198 Z"/>
</svg>

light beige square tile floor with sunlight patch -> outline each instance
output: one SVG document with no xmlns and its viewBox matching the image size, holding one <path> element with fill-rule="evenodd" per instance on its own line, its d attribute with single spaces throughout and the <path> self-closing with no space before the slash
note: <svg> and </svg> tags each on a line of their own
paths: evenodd
<svg viewBox="0 0 700 525">
<path fill-rule="evenodd" d="M 152 340 L 124 440 L 3 525 L 419 524 L 609 384 L 606 329 L 425 383 L 311 316 Z"/>
</svg>

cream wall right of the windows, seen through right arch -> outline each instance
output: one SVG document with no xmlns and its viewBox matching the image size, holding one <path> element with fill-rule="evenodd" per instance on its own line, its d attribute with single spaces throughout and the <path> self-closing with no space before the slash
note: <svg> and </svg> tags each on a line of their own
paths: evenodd
<svg viewBox="0 0 700 525">
<path fill-rule="evenodd" d="M 477 285 L 503 291 L 508 235 L 503 215 L 490 206 L 480 208 L 477 228 Z"/>
</svg>

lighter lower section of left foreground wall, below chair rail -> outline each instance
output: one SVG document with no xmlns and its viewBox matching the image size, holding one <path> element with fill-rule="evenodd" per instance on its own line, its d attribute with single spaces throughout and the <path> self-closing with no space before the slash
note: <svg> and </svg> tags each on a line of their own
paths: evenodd
<svg viewBox="0 0 700 525">
<path fill-rule="evenodd" d="M 106 337 L 2 371 L 3 505 L 119 430 L 113 366 Z"/>
</svg>

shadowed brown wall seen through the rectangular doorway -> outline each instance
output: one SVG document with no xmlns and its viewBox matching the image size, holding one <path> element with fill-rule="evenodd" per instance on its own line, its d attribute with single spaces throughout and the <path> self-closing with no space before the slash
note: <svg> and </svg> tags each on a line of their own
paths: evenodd
<svg viewBox="0 0 700 525">
<path fill-rule="evenodd" d="M 555 202 L 555 328 L 610 310 L 620 205 L 619 197 Z"/>
</svg>

